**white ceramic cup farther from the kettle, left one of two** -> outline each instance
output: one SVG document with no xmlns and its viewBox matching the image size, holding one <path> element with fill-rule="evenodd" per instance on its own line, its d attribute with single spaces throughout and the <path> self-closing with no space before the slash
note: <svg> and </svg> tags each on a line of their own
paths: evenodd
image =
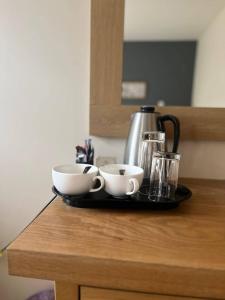
<svg viewBox="0 0 225 300">
<path fill-rule="evenodd" d="M 61 194 L 81 195 L 88 192 L 97 192 L 104 187 L 104 179 L 97 176 L 98 168 L 91 166 L 91 169 L 83 174 L 88 164 L 60 165 L 52 169 L 52 180 L 56 189 Z M 93 186 L 99 180 L 100 187 L 94 189 Z"/>
</svg>

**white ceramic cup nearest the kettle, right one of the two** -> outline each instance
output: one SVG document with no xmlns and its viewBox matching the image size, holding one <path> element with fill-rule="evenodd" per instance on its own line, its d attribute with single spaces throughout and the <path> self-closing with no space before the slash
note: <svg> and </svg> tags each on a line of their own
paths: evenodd
<svg viewBox="0 0 225 300">
<path fill-rule="evenodd" d="M 125 170 L 125 174 L 120 175 L 120 170 Z M 114 197 L 136 193 L 144 177 L 142 168 L 122 164 L 105 165 L 99 168 L 99 173 L 105 180 L 105 191 Z"/>
</svg>

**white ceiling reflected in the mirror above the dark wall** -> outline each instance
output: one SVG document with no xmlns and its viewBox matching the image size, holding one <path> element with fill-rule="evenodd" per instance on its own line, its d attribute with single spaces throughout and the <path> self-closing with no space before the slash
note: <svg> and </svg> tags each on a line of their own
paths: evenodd
<svg viewBox="0 0 225 300">
<path fill-rule="evenodd" d="M 125 0 L 125 40 L 198 39 L 225 0 Z"/>
</svg>

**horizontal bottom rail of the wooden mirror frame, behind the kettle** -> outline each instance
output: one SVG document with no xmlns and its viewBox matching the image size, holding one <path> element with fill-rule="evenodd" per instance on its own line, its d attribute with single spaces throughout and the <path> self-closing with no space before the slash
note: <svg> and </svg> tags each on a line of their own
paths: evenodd
<svg viewBox="0 0 225 300">
<path fill-rule="evenodd" d="M 116 138 L 127 138 L 131 114 L 139 111 L 138 106 L 122 105 L 91 105 L 90 109 L 90 133 Z M 225 108 L 167 106 L 156 111 L 179 118 L 181 140 L 225 140 Z"/>
</svg>

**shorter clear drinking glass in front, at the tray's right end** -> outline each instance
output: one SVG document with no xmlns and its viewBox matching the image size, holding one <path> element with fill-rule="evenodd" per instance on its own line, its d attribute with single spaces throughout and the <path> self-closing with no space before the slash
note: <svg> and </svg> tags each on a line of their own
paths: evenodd
<svg viewBox="0 0 225 300">
<path fill-rule="evenodd" d="M 175 199 L 179 162 L 180 154 L 178 153 L 155 152 L 153 154 L 149 187 L 150 200 Z"/>
</svg>

